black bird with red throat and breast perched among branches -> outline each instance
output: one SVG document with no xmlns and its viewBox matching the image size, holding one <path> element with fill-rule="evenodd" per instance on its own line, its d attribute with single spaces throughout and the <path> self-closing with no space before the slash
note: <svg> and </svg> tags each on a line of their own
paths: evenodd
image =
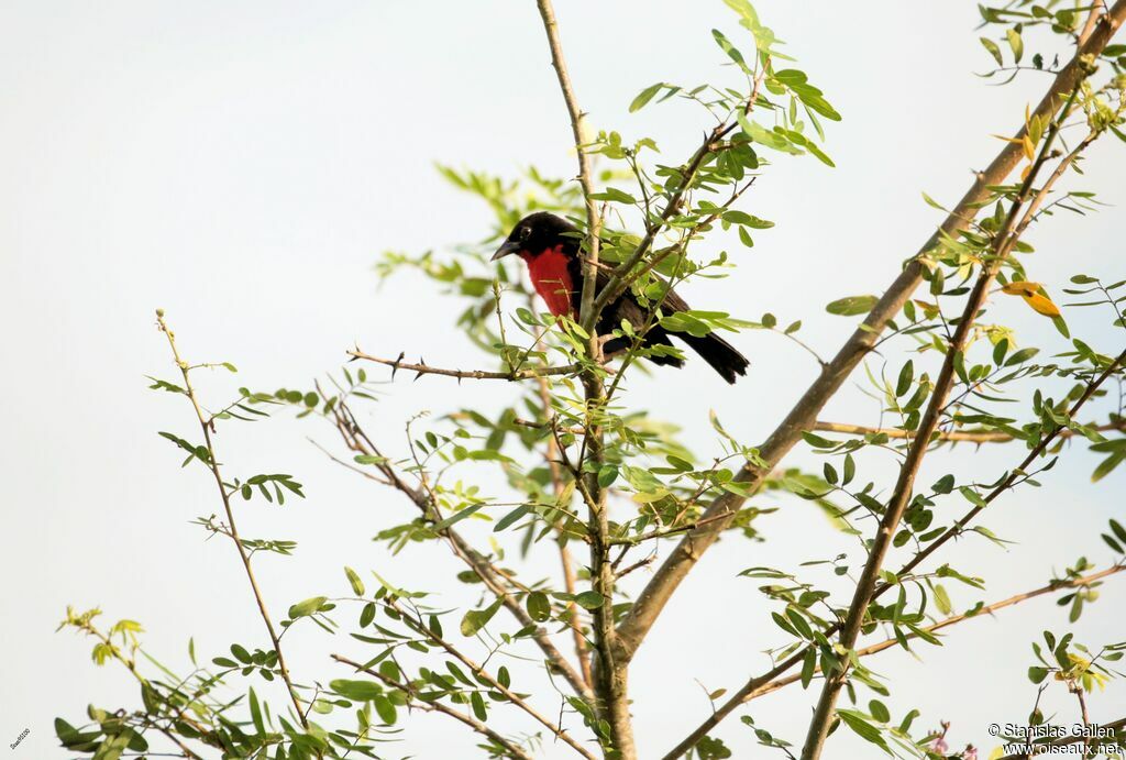
<svg viewBox="0 0 1126 760">
<path fill-rule="evenodd" d="M 547 304 L 548 311 L 555 316 L 578 319 L 579 305 L 582 298 L 582 260 L 580 256 L 579 229 L 566 220 L 549 212 L 536 212 L 520 220 L 511 233 L 501 243 L 492 260 L 498 261 L 507 256 L 519 256 L 528 267 L 531 284 L 539 297 Z M 596 280 L 596 294 L 609 283 L 610 276 L 599 269 Z M 641 332 L 650 322 L 656 304 L 643 306 L 637 297 L 627 288 L 622 295 L 606 305 L 599 315 L 596 330 L 599 336 L 609 336 L 626 320 L 635 332 Z M 672 288 L 667 288 L 660 303 L 661 313 L 665 316 L 689 310 L 685 299 Z M 705 336 L 692 336 L 688 332 L 669 329 L 660 322 L 654 322 L 645 332 L 642 346 L 654 348 L 671 347 L 670 338 L 685 342 L 688 348 L 707 361 L 716 373 L 729 383 L 734 383 L 740 375 L 747 374 L 750 361 L 735 347 L 717 336 L 708 332 Z M 602 347 L 607 356 L 628 347 L 629 338 L 609 338 Z M 646 358 L 656 365 L 682 367 L 685 360 L 668 352 L 653 352 Z"/>
</svg>

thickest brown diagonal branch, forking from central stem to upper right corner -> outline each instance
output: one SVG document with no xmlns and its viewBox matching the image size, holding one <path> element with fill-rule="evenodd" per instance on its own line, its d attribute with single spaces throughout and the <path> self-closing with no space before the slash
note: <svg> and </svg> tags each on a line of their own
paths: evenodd
<svg viewBox="0 0 1126 760">
<path fill-rule="evenodd" d="M 1048 91 L 1034 111 L 1036 116 L 1052 117 L 1060 109 L 1067 93 L 1072 92 L 1082 78 L 1087 75 L 1090 57 L 1099 55 L 1114 37 L 1118 27 L 1121 26 L 1124 19 L 1126 19 L 1126 0 L 1118 0 L 1109 12 L 1100 17 L 1094 30 L 1079 47 L 1075 56 L 1056 74 Z M 1025 131 L 1022 126 L 1017 136 L 1022 137 Z M 944 234 L 956 235 L 968 227 L 978 213 L 978 204 L 990 196 L 989 188 L 1003 184 L 1020 162 L 1021 150 L 1021 146 L 1016 143 L 1004 144 L 990 166 L 977 173 L 973 186 L 949 213 L 939 230 L 922 245 L 919 250 L 920 257 L 931 251 Z M 840 390 L 857 364 L 875 346 L 888 320 L 900 312 L 919 283 L 922 281 L 923 267 L 924 265 L 917 257 L 903 268 L 903 271 L 879 298 L 861 325 L 759 448 L 761 464 L 749 463 L 739 472 L 736 481 L 748 483 L 752 489 L 761 485 L 766 475 L 801 440 L 802 432 L 812 428 L 824 405 Z M 672 593 L 716 538 L 723 534 L 745 500 L 747 497 L 733 493 L 725 493 L 715 499 L 705 510 L 704 517 L 723 515 L 725 519 L 709 522 L 689 533 L 656 570 L 618 626 L 618 645 L 622 656 L 626 659 L 633 656 Z"/>
</svg>

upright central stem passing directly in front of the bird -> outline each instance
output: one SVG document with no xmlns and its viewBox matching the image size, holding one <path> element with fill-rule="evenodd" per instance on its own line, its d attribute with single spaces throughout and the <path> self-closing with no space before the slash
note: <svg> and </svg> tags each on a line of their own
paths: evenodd
<svg viewBox="0 0 1126 760">
<path fill-rule="evenodd" d="M 593 195 L 593 180 L 590 170 L 590 157 L 586 152 L 588 143 L 586 134 L 586 115 L 579 108 L 579 101 L 571 86 L 566 63 L 563 59 L 563 46 L 560 42 L 558 25 L 551 0 L 536 0 L 539 16 L 544 23 L 547 44 L 552 53 L 552 65 L 558 78 L 560 90 L 571 116 L 571 131 L 574 136 L 574 147 L 579 157 L 579 182 L 587 208 L 587 245 L 582 261 L 582 294 L 579 309 L 579 321 L 588 327 L 590 339 L 587 343 L 590 365 L 582 372 L 582 385 L 587 399 L 587 433 L 584 437 L 586 462 L 580 463 L 584 495 L 590 508 L 588 533 L 590 535 L 590 578 L 591 587 L 601 594 L 602 603 L 591 611 L 595 632 L 595 646 L 598 651 L 597 669 L 592 672 L 595 694 L 598 697 L 599 715 L 610 726 L 610 743 L 622 760 L 633 760 L 636 757 L 633 740 L 633 726 L 629 719 L 629 701 L 626 696 L 626 665 L 615 663 L 614 628 L 614 569 L 609 556 L 609 516 L 607 513 L 606 493 L 598 483 L 598 471 L 601 467 L 602 450 L 602 410 L 606 402 L 606 388 L 598 372 L 602 349 L 598 340 L 598 331 L 593 328 L 596 320 L 595 287 L 598 280 L 598 248 L 601 218 Z"/>
</svg>

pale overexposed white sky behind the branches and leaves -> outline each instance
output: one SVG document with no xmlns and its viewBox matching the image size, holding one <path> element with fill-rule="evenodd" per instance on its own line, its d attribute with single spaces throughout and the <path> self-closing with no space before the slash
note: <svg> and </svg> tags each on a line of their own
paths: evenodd
<svg viewBox="0 0 1126 760">
<path fill-rule="evenodd" d="M 777 227 L 760 233 L 752 252 L 739 253 L 744 266 L 733 277 L 686 295 L 736 316 L 771 311 L 783 323 L 803 319 L 806 340 L 828 355 L 854 323 L 826 315 L 823 305 L 878 293 L 892 280 L 938 221 L 920 191 L 948 204 L 960 197 L 971 170 L 998 150 L 990 135 L 1012 132 L 1047 80 L 992 88 L 974 75 L 990 65 L 976 39 L 974 2 L 759 0 L 757 7 L 843 114 L 828 126 L 838 168 L 779 160 L 741 206 Z M 557 12 L 593 126 L 652 135 L 673 163 L 706 128 L 703 113 L 670 102 L 627 115 L 632 98 L 659 80 L 722 79 L 725 59 L 713 27 L 751 47 L 718 0 L 560 0 Z M 215 405 L 240 384 L 307 387 L 338 367 L 355 341 L 384 356 L 405 349 L 434 364 L 473 366 L 479 354 L 448 327 L 459 304 L 434 298 L 410 276 L 381 289 L 372 265 L 383 250 L 489 234 L 488 209 L 446 185 L 435 162 L 503 175 L 528 164 L 558 176 L 574 170 L 530 0 L 9 0 L 0 5 L 0 98 L 7 643 L 0 740 L 11 743 L 29 728 L 10 754 L 37 760 L 65 757 L 54 717 L 77 724 L 89 703 L 138 704 L 127 673 L 89 661 L 92 642 L 54 633 L 68 603 L 100 606 L 110 622 L 138 619 L 149 651 L 177 670 L 187 663 L 190 635 L 206 659 L 233 641 L 266 642 L 231 547 L 203 542 L 187 525 L 218 508 L 213 483 L 200 471 L 179 470 L 177 453 L 155 435 L 193 437 L 195 428 L 176 397 L 145 390 L 146 375 L 173 372 L 153 309 L 168 311 L 190 360 L 240 367 L 233 379 L 199 382 Z M 1111 205 L 1087 218 L 1054 217 L 1031 236 L 1038 252 L 1028 260 L 1030 275 L 1053 293 L 1079 271 L 1116 279 L 1126 269 L 1124 146 L 1103 141 L 1085 170 L 1082 187 Z M 1017 299 L 994 313 L 1026 334 L 1049 330 Z M 1072 320 L 1097 349 L 1120 350 L 1107 323 L 1085 314 Z M 1062 339 L 1051 340 L 1065 350 Z M 741 439 L 761 439 L 815 368 L 774 336 L 734 342 L 753 363 L 734 388 L 691 361 L 681 373 L 634 381 L 628 403 L 681 424 L 701 456 L 716 449 L 709 409 Z M 513 393 L 504 384 L 400 382 L 367 413 L 394 449 L 402 420 L 414 412 L 499 408 Z M 824 417 L 873 423 L 877 412 L 852 393 Z M 334 442 L 331 431 L 284 415 L 230 426 L 217 439 L 232 475 L 288 472 L 306 485 L 306 500 L 282 509 L 240 508 L 244 535 L 300 543 L 294 557 L 259 563 L 275 617 L 300 599 L 343 593 L 342 564 L 443 589 L 439 603 L 474 600 L 445 583 L 457 566 L 440 548 L 392 558 L 373 544 L 378 529 L 409 519 L 410 506 L 332 465 L 306 436 Z M 928 459 L 923 477 L 929 483 L 972 467 L 991 480 L 1020 456 L 1017 447 L 960 448 Z M 793 462 L 820 467 L 802 451 Z M 991 510 L 984 525 L 1017 542 L 1009 551 L 964 540 L 944 554 L 989 581 L 986 593 L 956 590 L 956 601 L 1035 588 L 1079 555 L 1105 565 L 1109 549 L 1098 533 L 1109 517 L 1123 519 L 1126 473 L 1092 490 L 1094 463 L 1076 450 L 1044 488 L 1008 495 Z M 869 477 L 887 472 L 876 466 Z M 643 757 L 659 757 L 707 714 L 705 690 L 738 688 L 765 669 L 760 652 L 781 642 L 759 582 L 734 574 L 750 565 L 796 569 L 848 546 L 812 506 L 779 504 L 760 524 L 770 542 L 732 539 L 713 549 L 635 661 Z M 963 506 L 951 501 L 947 509 L 960 513 Z M 535 570 L 554 572 L 554 564 Z M 1117 613 L 1126 602 L 1121 585 L 1111 579 L 1074 626 L 1080 641 L 1098 646 L 1126 637 Z M 1043 627 L 1069 628 L 1065 611 L 1048 599 L 967 623 L 948 646 L 921 650 L 922 661 L 894 652 L 873 667 L 892 677 L 896 718 L 917 706 L 927 725 L 954 722 L 951 746 L 991 749 L 989 723 L 1020 723 L 1031 706 L 1028 643 Z M 312 627 L 286 642 L 291 668 L 304 680 L 347 677 L 327 660 L 329 651 L 363 652 Z M 1046 704 L 1070 723 L 1074 707 L 1062 691 Z M 272 696 L 280 705 L 280 691 Z M 744 712 L 799 743 L 814 696 L 790 687 Z M 1114 686 L 1091 698 L 1092 717 L 1121 717 L 1124 704 L 1126 691 Z M 518 717 L 511 725 L 527 727 Z M 473 755 L 473 736 L 452 722 L 412 717 L 405 728 L 388 757 Z M 736 757 L 765 753 L 750 749 L 753 735 L 738 719 L 718 733 Z M 844 733 L 834 735 L 829 757 L 873 752 Z M 544 757 L 565 754 L 548 748 Z"/>
</svg>

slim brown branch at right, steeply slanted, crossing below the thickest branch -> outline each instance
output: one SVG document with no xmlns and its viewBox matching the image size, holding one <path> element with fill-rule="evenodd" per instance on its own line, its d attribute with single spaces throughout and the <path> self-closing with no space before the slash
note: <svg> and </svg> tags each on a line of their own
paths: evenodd
<svg viewBox="0 0 1126 760">
<path fill-rule="evenodd" d="M 927 411 L 923 413 L 915 437 L 908 448 L 906 458 L 900 468 L 900 474 L 895 483 L 895 490 L 887 503 L 886 511 L 881 518 L 879 529 L 872 542 L 872 548 L 868 552 L 867 562 L 865 562 L 864 570 L 860 573 L 860 580 L 857 581 L 848 616 L 841 626 L 840 645 L 846 651 L 851 651 L 856 647 L 857 638 L 860 635 L 860 627 L 864 624 L 865 615 L 868 611 L 868 606 L 872 603 L 873 594 L 876 590 L 876 583 L 879 580 L 879 571 L 884 565 L 884 560 L 887 557 L 887 552 L 891 549 L 892 539 L 899 529 L 903 512 L 911 501 L 915 476 L 922 466 L 923 457 L 930 448 L 931 437 L 938 430 L 938 423 L 941 420 L 947 396 L 954 385 L 957 359 L 966 348 L 974 321 L 989 298 L 989 290 L 993 280 L 1001 270 L 1001 266 L 1008 258 L 1012 247 L 1016 244 L 1020 231 L 1024 229 L 1017 229 L 1018 220 L 1021 212 L 1025 211 L 1025 204 L 1028 203 L 1029 197 L 1033 195 L 1036 176 L 1052 152 L 1052 146 L 1055 144 L 1060 127 L 1071 114 L 1080 84 L 1083 81 L 1085 81 L 1085 78 L 1080 79 L 1067 97 L 1067 101 L 1064 104 L 1058 116 L 1052 122 L 1044 143 L 1040 145 L 1036 161 L 1021 184 L 1017 197 L 1013 198 L 1012 205 L 1009 207 L 1004 223 L 994 238 L 993 256 L 983 265 L 982 272 L 974 284 L 974 289 L 958 320 L 958 327 L 955 330 L 954 338 L 950 340 L 950 345 L 947 347 L 946 358 L 942 361 L 938 378 L 935 381 L 935 390 L 931 393 Z M 1054 177 L 1058 175 L 1054 175 Z M 1047 189 L 1047 187 L 1042 188 L 1039 193 L 1046 193 Z M 848 664 L 844 662 L 835 673 L 825 674 L 824 686 L 821 689 L 821 696 L 817 699 L 813 719 L 810 722 L 805 746 L 802 749 L 802 760 L 817 760 L 821 757 L 825 737 L 829 735 L 829 726 L 835 713 L 837 698 L 840 696 L 840 690 L 848 680 Z"/>
</svg>

